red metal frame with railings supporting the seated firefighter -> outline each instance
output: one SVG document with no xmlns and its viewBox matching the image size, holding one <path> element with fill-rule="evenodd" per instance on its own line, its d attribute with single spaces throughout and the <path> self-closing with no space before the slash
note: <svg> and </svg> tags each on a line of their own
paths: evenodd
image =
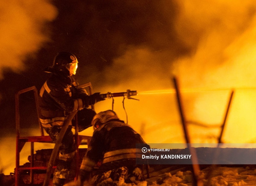
<svg viewBox="0 0 256 186">
<path fill-rule="evenodd" d="M 89 94 L 92 94 L 92 84 L 86 83 L 79 87 L 89 87 Z M 38 118 L 38 125 L 39 130 L 41 132 L 41 136 L 20 136 L 20 94 L 26 93 L 29 91 L 34 92 L 34 99 L 36 102 L 36 111 L 37 111 L 37 118 Z M 92 109 L 94 109 L 94 105 L 92 105 Z M 50 136 L 44 136 L 44 130 L 41 127 L 41 123 L 39 120 L 39 107 L 38 107 L 38 91 L 36 89 L 36 86 L 31 86 L 29 88 L 20 90 L 18 93 L 15 94 L 15 111 L 16 111 L 16 168 L 15 168 L 15 186 L 19 186 L 19 180 L 20 180 L 20 170 L 29 170 L 30 171 L 30 183 L 33 184 L 33 170 L 35 169 L 47 169 L 47 167 L 34 167 L 34 142 L 41 142 L 41 143 L 53 143 Z M 76 122 L 77 123 L 77 122 Z M 85 144 L 90 143 L 91 136 L 82 136 L 78 135 L 78 125 L 76 124 L 75 128 L 75 139 L 76 139 L 76 147 L 77 147 L 77 167 L 79 164 L 79 156 L 78 156 L 78 146 L 81 145 L 82 140 L 86 140 L 87 142 Z M 30 167 L 20 167 L 20 152 L 25 145 L 26 142 L 31 143 L 31 163 Z M 83 143 L 84 144 L 84 143 Z M 53 168 L 56 168 L 56 166 L 53 166 Z M 78 174 L 78 173 L 77 173 Z"/>
</svg>

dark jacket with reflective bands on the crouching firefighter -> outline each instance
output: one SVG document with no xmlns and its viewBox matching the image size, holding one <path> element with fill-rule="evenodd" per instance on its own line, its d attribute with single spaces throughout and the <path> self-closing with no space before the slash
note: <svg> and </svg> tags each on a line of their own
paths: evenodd
<svg viewBox="0 0 256 186">
<path fill-rule="evenodd" d="M 80 169 L 90 172 L 98 161 L 103 165 L 140 158 L 141 149 L 136 149 L 136 143 L 146 144 L 130 125 L 118 119 L 109 120 L 94 131 Z"/>
</svg>

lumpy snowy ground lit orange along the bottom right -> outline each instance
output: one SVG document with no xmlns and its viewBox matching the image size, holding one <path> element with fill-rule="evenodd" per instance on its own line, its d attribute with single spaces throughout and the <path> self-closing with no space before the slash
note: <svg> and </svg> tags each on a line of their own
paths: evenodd
<svg viewBox="0 0 256 186">
<path fill-rule="evenodd" d="M 172 167 L 163 169 L 150 168 L 150 178 L 136 184 L 126 184 L 123 181 L 114 183 L 112 180 L 101 186 L 192 186 L 193 174 L 188 167 L 173 170 Z M 256 185 L 256 167 L 206 167 L 202 169 L 201 176 L 204 186 L 241 186 Z M 158 169 L 158 170 L 157 170 Z M 211 174 L 209 175 L 209 173 Z M 66 184 L 65 186 L 73 184 Z"/>
</svg>

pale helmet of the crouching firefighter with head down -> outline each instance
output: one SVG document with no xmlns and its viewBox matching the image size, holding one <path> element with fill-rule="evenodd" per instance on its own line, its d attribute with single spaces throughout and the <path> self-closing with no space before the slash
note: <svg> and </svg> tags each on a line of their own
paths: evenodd
<svg viewBox="0 0 256 186">
<path fill-rule="evenodd" d="M 98 128 L 96 127 L 97 122 L 106 123 L 111 119 L 119 119 L 113 110 L 106 110 L 94 115 L 92 119 L 93 130 L 96 130 Z"/>
</svg>

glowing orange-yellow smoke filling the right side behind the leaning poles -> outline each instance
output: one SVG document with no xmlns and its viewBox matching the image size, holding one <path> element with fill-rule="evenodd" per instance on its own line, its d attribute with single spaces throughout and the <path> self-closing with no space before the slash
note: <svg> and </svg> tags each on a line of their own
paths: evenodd
<svg viewBox="0 0 256 186">
<path fill-rule="evenodd" d="M 152 43 L 128 45 L 125 53 L 116 57 L 111 66 L 93 74 L 89 79 L 92 79 L 100 92 L 136 89 L 140 103 L 129 100 L 129 104 L 132 103 L 128 116 L 130 114 L 130 118 L 133 118 L 130 122 L 136 123 L 134 125 L 138 130 L 141 123 L 146 123 L 144 138 L 155 143 L 184 142 L 182 131 L 177 126 L 180 122 L 175 95 L 155 94 L 146 97 L 140 95 L 140 92 L 170 89 L 173 87 L 171 78 L 175 75 L 181 88 L 191 88 L 189 93 L 182 94 L 187 119 L 221 125 L 230 89 L 237 88 L 224 140 L 231 143 L 252 140 L 254 92 L 244 88 L 254 86 L 255 82 L 255 1 L 170 2 L 162 1 L 158 4 L 157 12 L 161 12 L 161 18 L 165 19 L 156 19 L 155 24 L 149 22 L 150 26 L 155 27 L 144 32 L 144 37 L 151 38 L 148 40 Z M 167 11 L 174 5 L 175 13 Z M 168 42 L 167 30 L 178 41 L 177 45 Z M 152 47 L 154 43 L 158 46 L 157 50 Z M 177 48 L 180 53 L 175 51 Z M 195 92 L 193 89 L 196 88 L 203 91 Z M 122 109 L 120 106 L 117 113 L 121 113 L 125 119 Z M 169 135 L 152 138 L 153 132 L 166 131 L 162 126 L 170 126 Z M 149 132 L 151 128 L 155 130 Z M 216 142 L 214 137 L 220 132 L 215 128 L 209 132 L 195 126 L 191 126 L 190 130 L 194 142 L 200 143 Z"/>
</svg>

